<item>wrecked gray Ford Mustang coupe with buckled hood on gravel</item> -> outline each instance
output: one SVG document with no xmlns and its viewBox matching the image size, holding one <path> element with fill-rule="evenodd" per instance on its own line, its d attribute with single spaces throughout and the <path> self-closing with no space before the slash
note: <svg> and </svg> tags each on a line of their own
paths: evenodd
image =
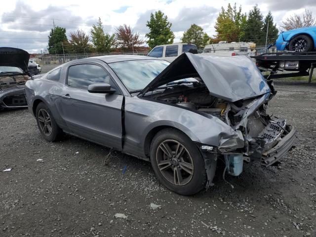
<svg viewBox="0 0 316 237">
<path fill-rule="evenodd" d="M 268 166 L 296 129 L 266 113 L 276 93 L 244 57 L 184 53 L 171 64 L 116 55 L 65 63 L 27 81 L 25 94 L 48 141 L 63 132 L 150 160 L 163 185 L 183 195 L 211 186 L 218 158 Z"/>
</svg>

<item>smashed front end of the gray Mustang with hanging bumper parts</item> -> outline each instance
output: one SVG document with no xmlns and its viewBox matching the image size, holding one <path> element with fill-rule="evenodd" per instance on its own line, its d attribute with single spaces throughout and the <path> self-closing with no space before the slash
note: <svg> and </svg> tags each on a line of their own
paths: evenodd
<svg viewBox="0 0 316 237">
<path fill-rule="evenodd" d="M 227 145 L 226 140 L 221 140 L 218 147 L 220 154 L 228 156 L 229 161 L 242 158 L 247 162 L 258 160 L 262 165 L 269 166 L 292 148 L 296 128 L 288 125 L 284 118 L 267 114 L 269 96 L 270 93 L 267 93 L 261 98 L 230 103 L 230 110 L 226 111 L 227 122 L 239 134 L 239 147 L 236 144 Z M 237 165 L 242 166 L 242 162 Z M 238 175 L 230 170 L 229 173 Z"/>
</svg>

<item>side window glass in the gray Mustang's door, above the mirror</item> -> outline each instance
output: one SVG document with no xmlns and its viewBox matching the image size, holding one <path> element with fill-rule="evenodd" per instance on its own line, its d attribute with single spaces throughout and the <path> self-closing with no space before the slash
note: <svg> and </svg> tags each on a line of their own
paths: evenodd
<svg viewBox="0 0 316 237">
<path fill-rule="evenodd" d="M 118 91 L 110 75 L 100 66 L 94 64 L 79 64 L 69 67 L 67 85 L 87 89 L 90 84 L 94 83 L 108 83 Z"/>
</svg>

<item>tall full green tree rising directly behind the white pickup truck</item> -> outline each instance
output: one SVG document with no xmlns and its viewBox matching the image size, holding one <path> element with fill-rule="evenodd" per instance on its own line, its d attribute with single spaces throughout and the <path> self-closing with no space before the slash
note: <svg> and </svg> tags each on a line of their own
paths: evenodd
<svg viewBox="0 0 316 237">
<path fill-rule="evenodd" d="M 146 26 L 150 30 L 146 34 L 146 37 L 148 38 L 147 43 L 151 48 L 160 44 L 173 43 L 174 34 L 171 31 L 172 24 L 168 21 L 168 17 L 160 10 L 154 14 L 150 14 L 150 20 L 147 21 Z"/>
</svg>

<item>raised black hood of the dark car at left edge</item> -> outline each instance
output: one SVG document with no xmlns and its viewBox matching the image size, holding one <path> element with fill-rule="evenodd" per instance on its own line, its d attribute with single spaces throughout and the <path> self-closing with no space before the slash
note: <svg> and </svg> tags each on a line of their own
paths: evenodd
<svg viewBox="0 0 316 237">
<path fill-rule="evenodd" d="M 0 66 L 17 67 L 28 71 L 30 54 L 20 48 L 0 47 Z"/>
</svg>

